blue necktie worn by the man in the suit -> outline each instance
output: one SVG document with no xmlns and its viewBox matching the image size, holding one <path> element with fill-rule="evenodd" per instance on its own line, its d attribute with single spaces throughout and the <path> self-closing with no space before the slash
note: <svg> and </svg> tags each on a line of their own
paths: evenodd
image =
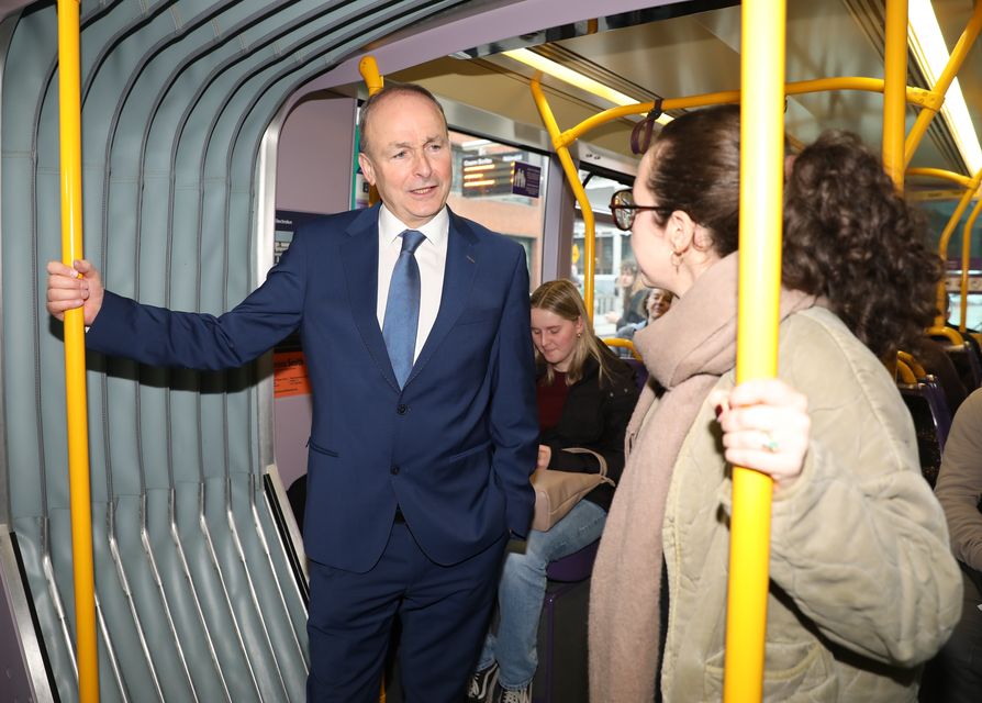
<svg viewBox="0 0 982 703">
<path fill-rule="evenodd" d="M 422 232 L 406 230 L 402 233 L 402 252 L 392 269 L 389 298 L 386 302 L 386 321 L 382 336 L 389 349 L 389 360 L 395 371 L 399 387 L 405 384 L 413 368 L 416 352 L 416 327 L 420 323 L 420 265 L 416 247 L 426 238 Z"/>
</svg>

